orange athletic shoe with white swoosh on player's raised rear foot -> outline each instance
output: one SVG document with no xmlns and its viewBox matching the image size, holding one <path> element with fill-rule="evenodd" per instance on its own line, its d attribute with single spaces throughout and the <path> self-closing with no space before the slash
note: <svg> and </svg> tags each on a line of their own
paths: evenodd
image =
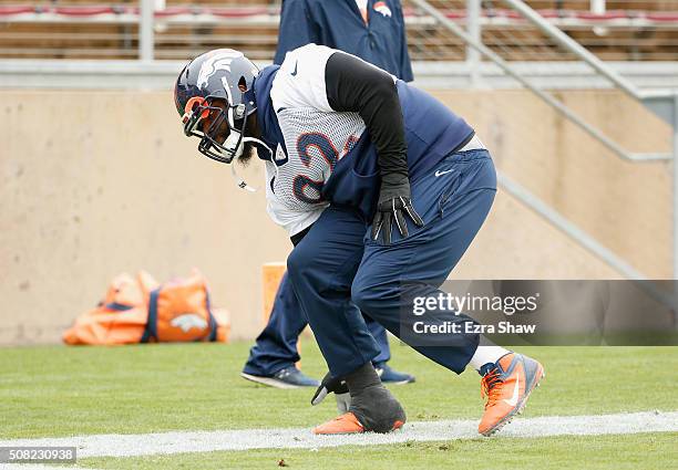
<svg viewBox="0 0 678 470">
<path fill-rule="evenodd" d="M 483 366 L 481 374 L 481 395 L 487 398 L 477 426 L 483 436 L 490 436 L 511 422 L 525 408 L 530 394 L 545 375 L 538 362 L 515 353 Z"/>
</svg>

